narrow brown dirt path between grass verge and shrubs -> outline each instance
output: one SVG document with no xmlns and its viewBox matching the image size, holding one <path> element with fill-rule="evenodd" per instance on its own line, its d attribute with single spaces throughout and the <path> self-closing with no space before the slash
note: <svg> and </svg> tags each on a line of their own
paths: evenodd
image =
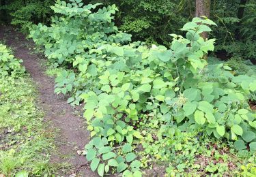
<svg viewBox="0 0 256 177">
<path fill-rule="evenodd" d="M 85 123 L 79 116 L 74 115 L 74 109 L 66 99 L 54 93 L 53 78 L 44 74 L 40 57 L 29 50 L 33 48 L 33 43 L 25 39 L 21 33 L 14 31 L 12 27 L 0 27 L 0 40 L 14 50 L 16 58 L 23 59 L 26 70 L 37 84 L 39 104 L 46 114 L 45 120 L 52 123 L 53 127 L 49 127 L 50 129 L 59 129 L 59 136 L 55 138 L 57 154 L 52 156 L 51 161 L 70 163 L 72 170 L 66 176 L 72 176 L 76 169 L 86 163 L 85 157 L 77 154 L 77 150 L 83 149 L 89 142 L 89 131 L 84 129 Z M 87 165 L 87 167 L 81 167 L 76 176 L 93 177 L 96 174 L 91 172 Z"/>
</svg>

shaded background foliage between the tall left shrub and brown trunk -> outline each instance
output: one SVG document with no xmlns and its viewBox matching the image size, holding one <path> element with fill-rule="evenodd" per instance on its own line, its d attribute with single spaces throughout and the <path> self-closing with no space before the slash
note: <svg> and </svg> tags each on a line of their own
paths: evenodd
<svg viewBox="0 0 256 177">
<path fill-rule="evenodd" d="M 90 3 L 99 1 L 92 0 Z M 171 42 L 169 33 L 192 19 L 195 3 L 193 1 L 165 0 L 110 0 L 100 1 L 104 5 L 116 4 L 119 13 L 116 16 L 119 29 L 131 33 L 133 39 L 147 44 L 166 44 Z"/>
</svg>

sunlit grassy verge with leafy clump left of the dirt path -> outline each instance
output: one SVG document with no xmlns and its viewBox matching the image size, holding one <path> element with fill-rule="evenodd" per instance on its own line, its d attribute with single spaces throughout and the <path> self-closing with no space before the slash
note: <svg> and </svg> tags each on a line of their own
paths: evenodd
<svg viewBox="0 0 256 177">
<path fill-rule="evenodd" d="M 53 133 L 35 106 L 35 88 L 11 51 L 0 44 L 0 176 L 56 174 L 49 163 Z"/>
</svg>

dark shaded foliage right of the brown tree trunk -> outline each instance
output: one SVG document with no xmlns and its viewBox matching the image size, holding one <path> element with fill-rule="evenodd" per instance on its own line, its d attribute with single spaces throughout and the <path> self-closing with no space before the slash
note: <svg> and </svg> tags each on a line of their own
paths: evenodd
<svg viewBox="0 0 256 177">
<path fill-rule="evenodd" d="M 227 57 L 255 59 L 255 5 L 256 1 L 247 1 L 244 16 L 238 18 L 240 1 L 214 1 L 211 14 L 218 28 L 212 35 L 218 38 L 216 50 L 227 52 Z"/>
</svg>

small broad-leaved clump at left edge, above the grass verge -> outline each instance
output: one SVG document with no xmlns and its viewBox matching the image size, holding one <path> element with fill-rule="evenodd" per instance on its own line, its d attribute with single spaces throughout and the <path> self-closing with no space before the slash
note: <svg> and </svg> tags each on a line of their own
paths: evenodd
<svg viewBox="0 0 256 177">
<path fill-rule="evenodd" d="M 22 62 L 20 59 L 15 59 L 6 46 L 0 44 L 0 76 L 23 74 L 25 69 L 20 65 Z"/>
</svg>

